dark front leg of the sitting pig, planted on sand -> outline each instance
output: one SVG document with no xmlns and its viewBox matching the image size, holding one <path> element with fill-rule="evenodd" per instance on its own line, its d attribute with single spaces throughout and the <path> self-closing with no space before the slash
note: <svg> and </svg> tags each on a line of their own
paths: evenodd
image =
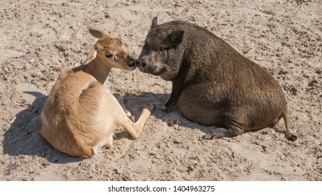
<svg viewBox="0 0 322 195">
<path fill-rule="evenodd" d="M 172 81 L 172 91 L 168 102 L 161 108 L 161 111 L 168 113 L 172 110 L 172 107 L 178 102 L 183 89 L 183 79 L 176 79 Z"/>
</svg>

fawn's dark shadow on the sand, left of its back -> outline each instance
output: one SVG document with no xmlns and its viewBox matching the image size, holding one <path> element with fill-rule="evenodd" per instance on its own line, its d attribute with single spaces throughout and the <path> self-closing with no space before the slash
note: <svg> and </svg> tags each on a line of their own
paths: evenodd
<svg viewBox="0 0 322 195">
<path fill-rule="evenodd" d="M 40 135 L 40 115 L 47 96 L 36 91 L 24 91 L 24 93 L 33 95 L 36 100 L 16 115 L 13 124 L 4 134 L 3 153 L 12 156 L 36 155 L 57 164 L 81 161 L 82 158 L 71 157 L 55 150 Z"/>
</svg>

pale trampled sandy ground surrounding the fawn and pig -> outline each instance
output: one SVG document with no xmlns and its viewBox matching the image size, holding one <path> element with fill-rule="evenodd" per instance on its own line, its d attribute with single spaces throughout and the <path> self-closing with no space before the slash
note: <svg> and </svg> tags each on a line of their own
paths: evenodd
<svg viewBox="0 0 322 195">
<path fill-rule="evenodd" d="M 322 1 L 1 0 L 0 180 L 322 180 Z M 114 147 L 90 159 L 54 150 L 40 137 L 40 112 L 59 73 L 96 42 L 86 26 L 119 36 L 137 58 L 151 26 L 203 26 L 261 64 L 282 86 L 284 122 L 233 139 L 206 141 L 213 127 L 177 108 L 160 111 L 171 83 L 139 70 L 112 70 L 106 82 L 135 116 L 156 109 L 137 140 L 118 131 Z"/>
</svg>

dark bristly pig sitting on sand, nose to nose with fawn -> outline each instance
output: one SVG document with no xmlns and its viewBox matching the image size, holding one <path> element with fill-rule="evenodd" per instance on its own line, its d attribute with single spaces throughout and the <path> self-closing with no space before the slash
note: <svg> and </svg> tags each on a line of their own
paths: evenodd
<svg viewBox="0 0 322 195">
<path fill-rule="evenodd" d="M 273 127 L 280 118 L 286 138 L 297 139 L 290 133 L 286 100 L 272 75 L 200 26 L 182 21 L 159 25 L 155 17 L 136 66 L 172 81 L 162 111 L 178 104 L 186 118 L 218 127 L 205 139 Z"/>
</svg>

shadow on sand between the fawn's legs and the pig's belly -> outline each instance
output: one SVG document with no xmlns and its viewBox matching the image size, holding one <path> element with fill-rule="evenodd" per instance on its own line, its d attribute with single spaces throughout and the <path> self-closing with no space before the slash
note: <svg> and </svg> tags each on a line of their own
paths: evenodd
<svg viewBox="0 0 322 195">
<path fill-rule="evenodd" d="M 152 92 L 146 92 L 141 93 L 136 96 L 130 96 L 125 95 L 125 106 L 128 108 L 129 111 L 131 111 L 132 115 L 135 116 L 135 120 L 137 120 L 137 117 L 139 117 L 140 111 L 142 107 L 144 107 L 145 104 L 155 104 L 155 109 L 152 111 L 151 115 L 155 116 L 155 118 L 158 118 L 164 123 L 167 123 L 169 127 L 172 127 L 173 125 L 178 125 L 181 127 L 188 127 L 191 129 L 199 129 L 201 132 L 204 132 L 204 134 L 207 134 L 208 132 L 215 131 L 215 126 L 206 126 L 206 125 L 200 125 L 199 123 L 194 123 L 192 120 L 188 120 L 181 114 L 181 111 L 178 109 L 178 107 L 175 105 L 169 113 L 164 113 L 161 111 L 161 107 L 164 106 L 164 104 L 167 102 L 167 100 L 170 98 L 170 94 L 165 93 L 152 93 Z M 279 133 L 284 134 L 283 130 L 279 130 L 277 127 L 273 127 L 273 129 Z M 252 130 L 247 131 L 247 133 L 254 133 L 261 130 Z M 121 138 L 127 137 L 130 139 L 130 135 L 126 136 L 126 132 L 121 132 Z M 120 137 L 120 134 L 116 134 L 116 137 Z"/>
</svg>

